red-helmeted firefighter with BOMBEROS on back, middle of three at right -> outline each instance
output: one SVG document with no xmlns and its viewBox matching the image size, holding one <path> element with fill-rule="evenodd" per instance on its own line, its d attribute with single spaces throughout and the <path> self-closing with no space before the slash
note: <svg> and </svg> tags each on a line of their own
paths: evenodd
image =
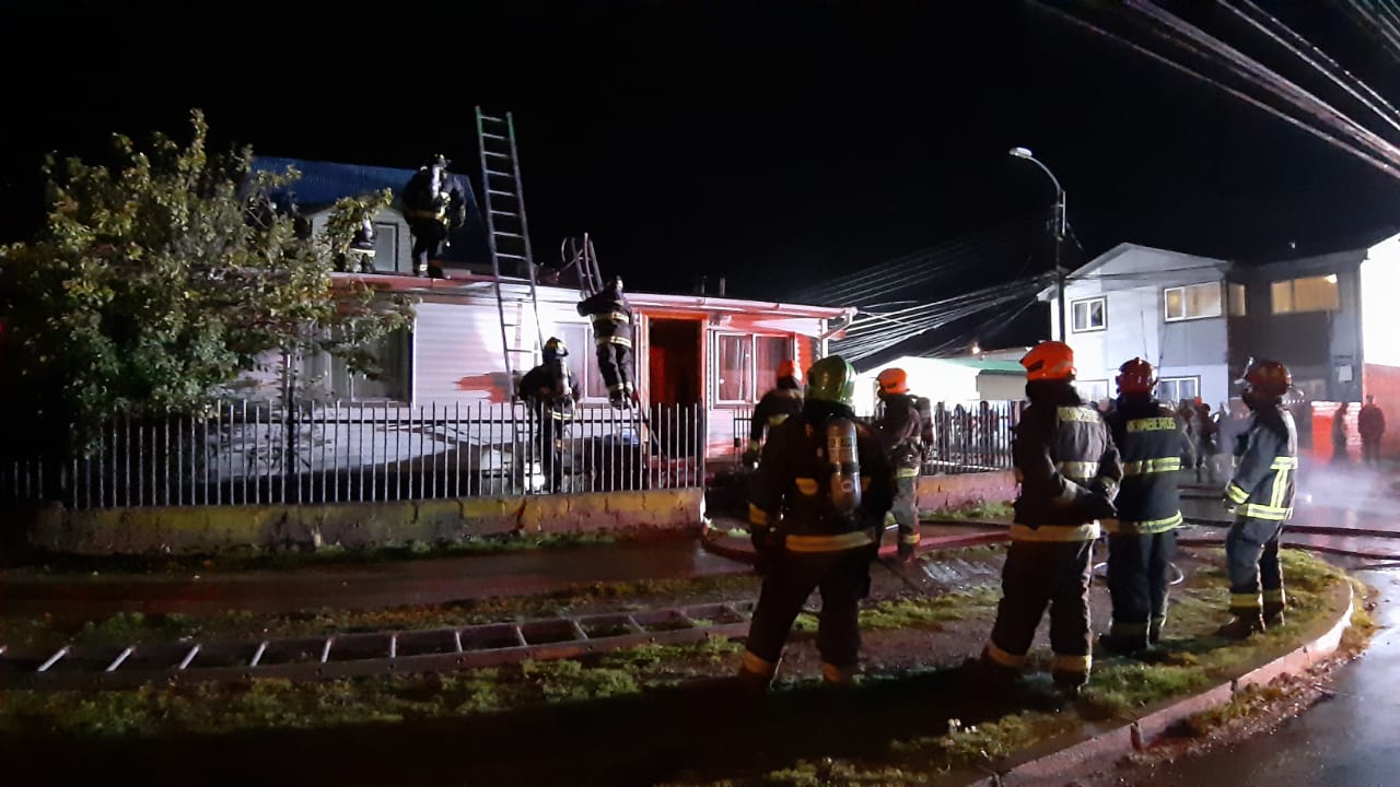
<svg viewBox="0 0 1400 787">
<path fill-rule="evenodd" d="M 1152 396 L 1152 364 L 1127 361 L 1119 367 L 1117 384 L 1117 403 L 1105 420 L 1123 457 L 1123 486 L 1114 500 L 1117 520 L 1103 522 L 1113 625 L 1099 644 L 1133 653 L 1162 637 L 1176 527 L 1182 524 L 1176 479 L 1179 471 L 1196 465 L 1196 457 L 1186 424 Z"/>
</svg>

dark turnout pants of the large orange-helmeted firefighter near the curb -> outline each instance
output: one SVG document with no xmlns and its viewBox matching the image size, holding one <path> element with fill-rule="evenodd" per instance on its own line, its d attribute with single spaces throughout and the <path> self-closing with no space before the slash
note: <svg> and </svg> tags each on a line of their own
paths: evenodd
<svg viewBox="0 0 1400 787">
<path fill-rule="evenodd" d="M 983 660 L 1021 669 L 1050 606 L 1051 667 L 1057 683 L 1089 679 L 1089 559 L 1092 541 L 1014 541 L 1001 570 L 1001 602 Z"/>
</svg>

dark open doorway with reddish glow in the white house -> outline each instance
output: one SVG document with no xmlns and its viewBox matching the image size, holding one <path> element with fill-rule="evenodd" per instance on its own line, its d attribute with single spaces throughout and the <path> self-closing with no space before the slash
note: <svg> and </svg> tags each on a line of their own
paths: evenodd
<svg viewBox="0 0 1400 787">
<path fill-rule="evenodd" d="M 651 318 L 651 423 L 661 450 L 671 457 L 697 457 L 706 443 L 704 392 L 700 372 L 699 319 Z"/>
</svg>

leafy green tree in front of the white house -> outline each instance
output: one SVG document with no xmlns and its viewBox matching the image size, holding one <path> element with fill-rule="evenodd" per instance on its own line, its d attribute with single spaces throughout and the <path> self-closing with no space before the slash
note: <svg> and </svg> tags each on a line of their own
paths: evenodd
<svg viewBox="0 0 1400 787">
<path fill-rule="evenodd" d="M 375 374 L 365 349 L 412 319 L 403 298 L 332 277 L 358 225 L 349 214 L 388 204 L 388 192 L 342 200 L 309 237 L 246 197 L 295 171 L 251 175 L 249 148 L 210 157 L 197 109 L 192 125 L 183 147 L 155 134 L 140 151 L 115 136 L 112 169 L 50 157 L 45 228 L 0 248 L 7 416 L 64 451 L 116 413 L 207 412 L 269 354 L 322 350 Z"/>
</svg>

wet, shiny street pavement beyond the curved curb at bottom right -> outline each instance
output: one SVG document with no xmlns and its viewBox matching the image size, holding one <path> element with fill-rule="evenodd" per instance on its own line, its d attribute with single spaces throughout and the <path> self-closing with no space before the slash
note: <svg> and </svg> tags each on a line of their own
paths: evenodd
<svg viewBox="0 0 1400 787">
<path fill-rule="evenodd" d="M 1383 787 L 1400 781 L 1400 570 L 1358 571 L 1382 592 L 1385 626 L 1357 661 L 1340 668 L 1330 699 L 1277 730 L 1159 767 L 1112 773 L 1085 787 Z"/>
</svg>

